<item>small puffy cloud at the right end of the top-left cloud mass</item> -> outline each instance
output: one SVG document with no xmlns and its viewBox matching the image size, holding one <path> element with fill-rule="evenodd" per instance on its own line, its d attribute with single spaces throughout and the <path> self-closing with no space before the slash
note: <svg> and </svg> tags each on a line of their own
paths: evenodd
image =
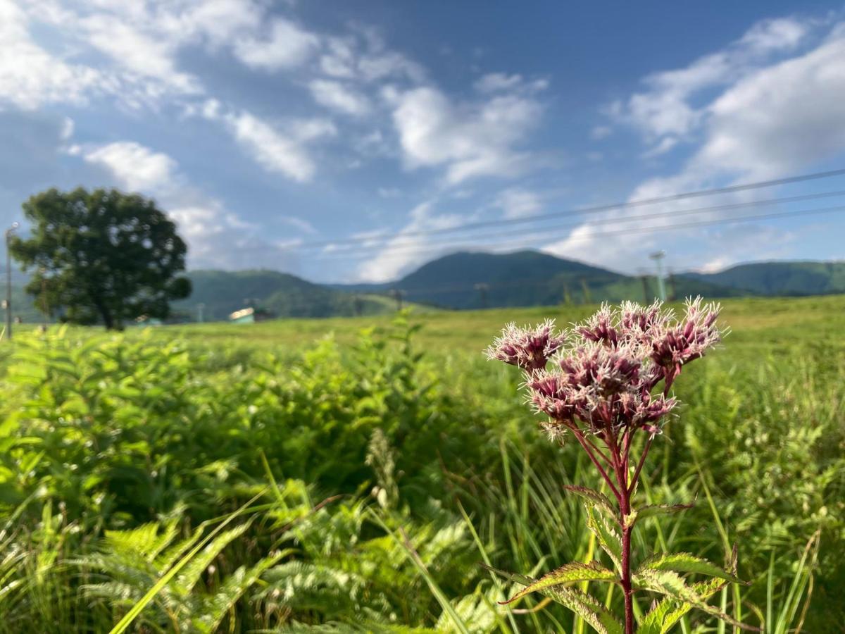
<svg viewBox="0 0 845 634">
<path fill-rule="evenodd" d="M 250 68 L 276 71 L 299 66 L 316 54 L 319 38 L 287 19 L 275 18 L 263 37 L 245 36 L 235 42 L 238 59 Z"/>
</svg>

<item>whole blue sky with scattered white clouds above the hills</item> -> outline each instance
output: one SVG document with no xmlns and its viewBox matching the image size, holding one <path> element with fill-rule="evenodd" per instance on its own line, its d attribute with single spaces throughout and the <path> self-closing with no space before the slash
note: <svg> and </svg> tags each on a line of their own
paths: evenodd
<svg viewBox="0 0 845 634">
<path fill-rule="evenodd" d="M 192 268 L 316 281 L 464 248 L 626 273 L 654 249 L 675 270 L 842 260 L 845 195 L 761 201 L 845 177 L 521 220 L 845 167 L 842 8 L 0 0 L 0 221 L 116 186 L 172 214 Z"/>
</svg>

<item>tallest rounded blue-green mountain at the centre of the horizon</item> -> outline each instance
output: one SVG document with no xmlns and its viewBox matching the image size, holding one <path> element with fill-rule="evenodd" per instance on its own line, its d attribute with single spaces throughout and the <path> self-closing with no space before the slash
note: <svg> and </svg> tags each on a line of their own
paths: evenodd
<svg viewBox="0 0 845 634">
<path fill-rule="evenodd" d="M 678 297 L 733 297 L 748 294 L 711 281 L 676 277 Z M 341 287 L 342 288 L 342 287 Z M 346 289 L 400 289 L 410 302 L 450 309 L 585 303 L 657 296 L 653 277 L 643 281 L 537 251 L 510 254 L 456 253 L 421 266 L 401 280 Z M 668 284 L 669 292 L 672 284 Z"/>
</svg>

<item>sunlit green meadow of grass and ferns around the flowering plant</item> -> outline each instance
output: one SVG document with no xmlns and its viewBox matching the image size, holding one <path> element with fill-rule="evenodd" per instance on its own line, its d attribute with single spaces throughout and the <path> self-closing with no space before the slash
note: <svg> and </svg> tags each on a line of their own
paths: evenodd
<svg viewBox="0 0 845 634">
<path fill-rule="evenodd" d="M 749 585 L 713 604 L 840 632 L 845 296 L 723 304 L 732 332 L 674 385 L 636 497 L 695 506 L 643 522 L 635 559 L 722 564 L 737 544 Z M 598 486 L 586 456 L 481 351 L 507 321 L 595 308 L 15 331 L 0 631 L 591 631 L 539 596 L 499 606 L 514 588 L 479 566 L 605 557 L 562 488 Z M 690 613 L 673 631 L 728 630 Z"/>
</svg>

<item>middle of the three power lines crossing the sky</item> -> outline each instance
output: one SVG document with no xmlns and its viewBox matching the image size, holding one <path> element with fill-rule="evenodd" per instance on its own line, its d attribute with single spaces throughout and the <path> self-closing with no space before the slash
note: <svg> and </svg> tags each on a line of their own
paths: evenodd
<svg viewBox="0 0 845 634">
<path fill-rule="evenodd" d="M 537 227 L 537 228 L 530 228 L 524 229 L 522 231 L 509 231 L 509 232 L 495 232 L 495 233 L 480 233 L 480 234 L 472 234 L 469 236 L 450 236 L 446 238 L 450 241 L 457 241 L 458 243 L 466 243 L 468 240 L 479 240 L 485 238 L 499 238 L 502 236 L 505 237 L 514 237 L 514 236 L 521 236 L 525 235 L 526 233 L 530 237 L 531 235 L 537 235 L 538 237 L 547 235 L 548 231 L 553 229 L 563 229 L 567 227 L 594 227 L 598 225 L 605 225 L 605 224 L 613 224 L 618 222 L 630 222 L 630 221 L 643 221 L 643 220 L 653 220 L 655 218 L 667 218 L 667 217 L 677 217 L 677 216 L 690 216 L 700 213 L 705 213 L 707 211 L 725 211 L 731 209 L 743 209 L 745 207 L 760 207 L 765 205 L 777 205 L 782 203 L 791 203 L 791 202 L 799 202 L 801 200 L 813 200 L 813 199 L 820 199 L 820 198 L 833 198 L 837 196 L 845 196 L 845 189 L 840 189 L 837 191 L 831 192 L 820 192 L 817 194 L 802 194 L 798 196 L 786 196 L 782 198 L 773 198 L 773 199 L 764 199 L 764 200 L 750 200 L 743 203 L 729 203 L 725 205 L 711 205 L 707 207 L 695 207 L 693 209 L 682 209 L 682 210 L 673 210 L 673 211 L 661 211 L 653 214 L 642 214 L 640 216 L 612 216 L 608 218 L 599 218 L 594 221 L 585 221 L 585 222 L 566 222 L 563 224 L 554 224 L 548 225 L 547 227 Z M 543 232 L 542 234 L 537 232 Z M 395 238 L 405 238 L 406 234 L 398 234 Z M 394 239 L 394 238 L 390 238 Z M 438 246 L 441 246 L 443 243 L 438 243 Z M 399 248 L 403 246 L 412 246 L 410 244 L 399 243 L 399 244 L 390 244 L 388 246 L 379 247 L 375 244 L 365 244 L 360 247 L 352 246 L 346 249 L 337 249 L 336 251 L 331 251 L 328 253 L 336 253 L 336 254 L 354 254 L 359 250 L 363 250 L 363 252 L 368 252 L 373 249 L 384 250 L 388 248 Z M 293 249 L 297 250 L 299 247 Z"/>
</svg>

